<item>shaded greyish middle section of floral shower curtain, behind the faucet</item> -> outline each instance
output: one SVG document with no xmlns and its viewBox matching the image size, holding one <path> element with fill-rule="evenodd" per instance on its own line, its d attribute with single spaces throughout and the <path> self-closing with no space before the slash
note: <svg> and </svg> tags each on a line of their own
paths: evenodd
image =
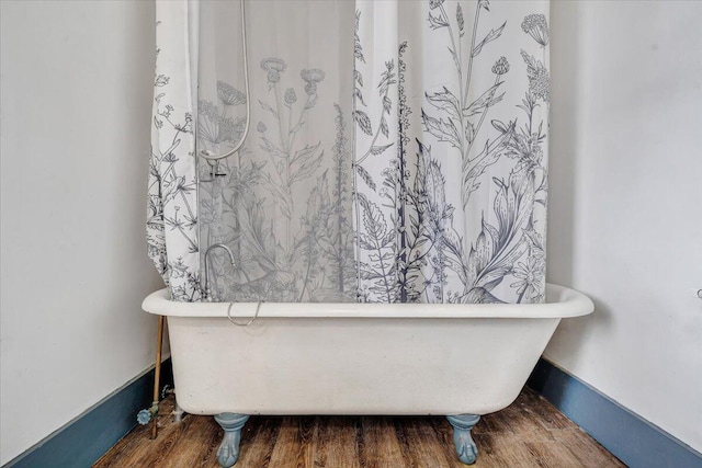
<svg viewBox="0 0 702 468">
<path fill-rule="evenodd" d="M 225 243 L 235 258 L 211 253 L 213 289 L 237 301 L 354 301 L 354 2 L 246 7 L 250 134 L 224 175 L 199 168 L 202 254 Z M 200 24 L 197 142 L 222 153 L 246 123 L 240 3 L 201 2 Z"/>
</svg>

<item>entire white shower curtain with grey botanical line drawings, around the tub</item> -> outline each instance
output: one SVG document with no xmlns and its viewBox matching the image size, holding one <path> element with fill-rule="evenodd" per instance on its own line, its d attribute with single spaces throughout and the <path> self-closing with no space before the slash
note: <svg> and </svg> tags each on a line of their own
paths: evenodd
<svg viewBox="0 0 702 468">
<path fill-rule="evenodd" d="M 544 300 L 547 1 L 157 2 L 149 253 L 177 300 Z M 244 148 L 222 153 L 244 134 Z M 196 136 L 196 139 L 195 139 Z"/>
</svg>

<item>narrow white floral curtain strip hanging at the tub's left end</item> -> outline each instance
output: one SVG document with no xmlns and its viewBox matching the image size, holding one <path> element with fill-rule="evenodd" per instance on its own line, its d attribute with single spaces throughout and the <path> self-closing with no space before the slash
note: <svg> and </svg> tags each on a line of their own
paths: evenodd
<svg viewBox="0 0 702 468">
<path fill-rule="evenodd" d="M 197 172 L 191 54 L 196 11 L 188 1 L 156 3 L 156 75 L 146 239 L 174 300 L 200 300 Z"/>
</svg>

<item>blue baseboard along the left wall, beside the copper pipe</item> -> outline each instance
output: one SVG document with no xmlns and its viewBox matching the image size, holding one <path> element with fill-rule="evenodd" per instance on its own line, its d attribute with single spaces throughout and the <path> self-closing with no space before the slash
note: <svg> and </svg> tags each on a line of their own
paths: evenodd
<svg viewBox="0 0 702 468">
<path fill-rule="evenodd" d="M 173 373 L 169 358 L 161 365 L 161 386 L 172 383 Z M 152 391 L 151 368 L 3 468 L 90 467 L 136 426 L 136 413 L 151 406 Z"/>
</svg>

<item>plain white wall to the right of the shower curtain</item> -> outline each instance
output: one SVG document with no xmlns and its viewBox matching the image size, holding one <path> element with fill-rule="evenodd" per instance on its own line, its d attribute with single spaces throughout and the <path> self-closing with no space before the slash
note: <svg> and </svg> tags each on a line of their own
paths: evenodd
<svg viewBox="0 0 702 468">
<path fill-rule="evenodd" d="M 702 2 L 552 2 L 546 358 L 702 450 Z"/>
</svg>

